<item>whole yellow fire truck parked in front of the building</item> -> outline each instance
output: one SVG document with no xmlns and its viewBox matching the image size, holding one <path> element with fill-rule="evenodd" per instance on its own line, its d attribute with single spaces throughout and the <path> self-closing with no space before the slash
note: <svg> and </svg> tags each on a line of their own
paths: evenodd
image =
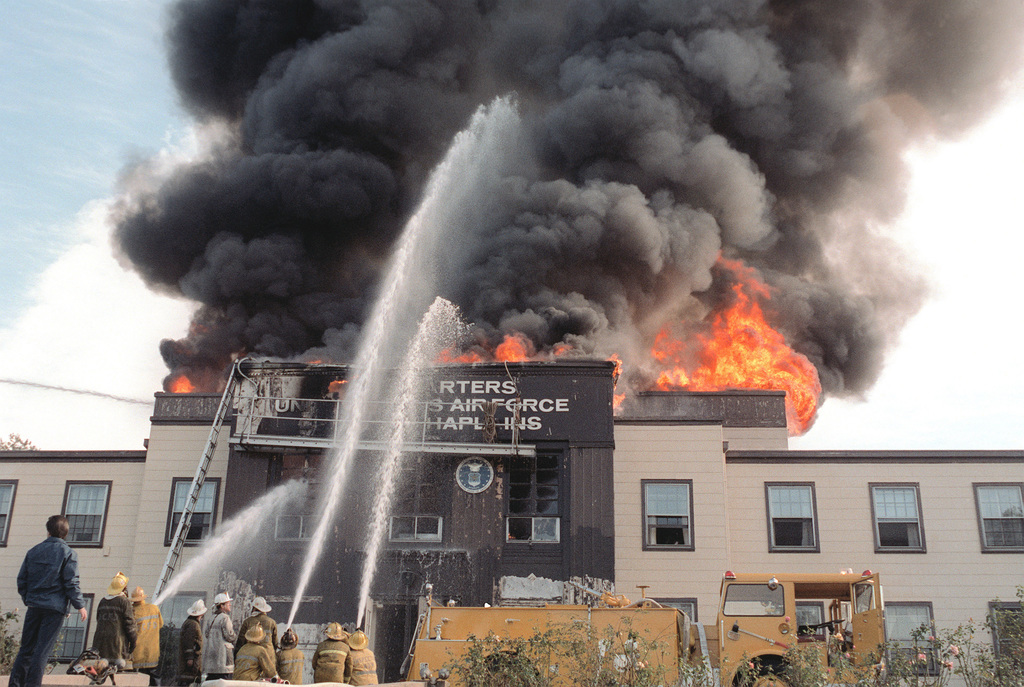
<svg viewBox="0 0 1024 687">
<path fill-rule="evenodd" d="M 787 654 L 800 651 L 838 680 L 839 672 L 882 670 L 885 643 L 882 587 L 879 575 L 734 574 L 722 579 L 714 625 L 691 622 L 675 608 L 642 598 L 597 594 L 587 605 L 456 607 L 434 603 L 429 596 L 420 614 L 417 638 L 408 661 L 409 680 L 438 677 L 462 684 L 460 665 L 474 643 L 500 655 L 510 644 L 537 641 L 554 629 L 562 637 L 589 637 L 612 670 L 657 667 L 664 684 L 676 684 L 681 669 L 703 665 L 713 684 L 785 687 Z M 820 621 L 798 621 L 797 604 L 820 608 Z M 805 617 L 805 619 L 807 619 Z M 489 641 L 483 641 L 487 640 Z M 475 642 L 474 642 L 475 640 Z M 642 651 L 642 655 L 641 655 Z M 571 668 L 564 656 L 544 657 L 556 684 Z M 629 682 L 624 680 L 624 682 Z"/>
</svg>

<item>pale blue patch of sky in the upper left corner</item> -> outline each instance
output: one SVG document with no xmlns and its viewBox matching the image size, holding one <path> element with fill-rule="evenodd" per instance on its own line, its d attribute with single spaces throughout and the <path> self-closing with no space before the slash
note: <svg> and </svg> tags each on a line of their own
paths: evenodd
<svg viewBox="0 0 1024 687">
<path fill-rule="evenodd" d="M 78 238 L 133 156 L 185 126 L 163 49 L 166 2 L 33 0 L 0 7 L 0 321 Z"/>
</svg>

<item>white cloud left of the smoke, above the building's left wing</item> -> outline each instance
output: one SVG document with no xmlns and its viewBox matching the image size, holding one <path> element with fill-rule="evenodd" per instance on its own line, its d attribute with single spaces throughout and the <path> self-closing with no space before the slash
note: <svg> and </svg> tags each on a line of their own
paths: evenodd
<svg viewBox="0 0 1024 687">
<path fill-rule="evenodd" d="M 113 257 L 106 202 L 75 221 L 81 242 L 33 288 L 34 303 L 0 331 L 0 378 L 148 399 L 167 369 L 161 339 L 185 333 L 193 305 L 158 296 Z M 0 435 L 44 449 L 142 448 L 150 405 L 0 384 Z"/>
</svg>

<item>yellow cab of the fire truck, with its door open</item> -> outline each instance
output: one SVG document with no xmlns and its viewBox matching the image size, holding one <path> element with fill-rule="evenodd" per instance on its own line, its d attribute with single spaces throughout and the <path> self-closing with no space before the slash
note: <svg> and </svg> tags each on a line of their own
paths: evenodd
<svg viewBox="0 0 1024 687">
<path fill-rule="evenodd" d="M 791 650 L 816 656 L 833 675 L 846 669 L 871 670 L 881 660 L 882 586 L 870 570 L 859 575 L 726 572 L 720 599 L 717 630 L 723 685 L 737 684 L 737 676 L 751 671 L 759 687 L 784 685 L 778 676 L 785 671 Z M 820 608 L 823 617 L 810 622 L 805 616 L 801 624 L 798 602 L 805 608 Z"/>
</svg>

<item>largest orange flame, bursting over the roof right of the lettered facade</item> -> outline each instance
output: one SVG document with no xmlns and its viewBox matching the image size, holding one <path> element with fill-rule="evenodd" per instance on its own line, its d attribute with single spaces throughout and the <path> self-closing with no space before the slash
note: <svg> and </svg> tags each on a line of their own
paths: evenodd
<svg viewBox="0 0 1024 687">
<path fill-rule="evenodd" d="M 667 369 L 656 387 L 666 391 L 781 389 L 786 392 L 790 431 L 803 434 L 814 422 L 821 395 L 817 370 L 765 320 L 759 301 L 767 299 L 770 291 L 758 281 L 754 269 L 721 258 L 719 264 L 738 280 L 733 286 L 735 302 L 717 313 L 711 333 L 698 335 L 693 344 L 673 338 L 668 326 L 658 333 L 651 354 Z M 685 369 L 687 353 L 698 360 L 689 372 Z"/>
</svg>

